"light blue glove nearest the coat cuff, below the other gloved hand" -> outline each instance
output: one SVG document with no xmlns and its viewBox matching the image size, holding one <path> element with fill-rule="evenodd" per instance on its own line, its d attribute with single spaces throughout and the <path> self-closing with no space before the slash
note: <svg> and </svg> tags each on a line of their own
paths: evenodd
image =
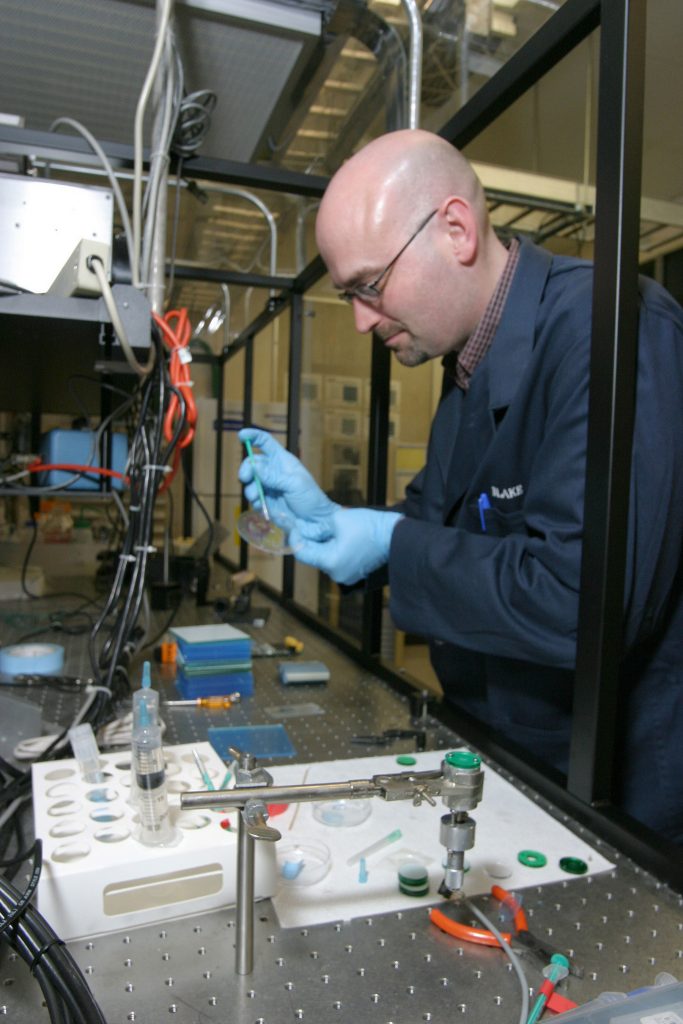
<svg viewBox="0 0 683 1024">
<path fill-rule="evenodd" d="M 330 536 L 315 536 L 305 521 L 290 534 L 290 544 L 298 561 L 327 572 L 335 583 L 350 585 L 384 565 L 399 512 L 337 507 L 327 522 Z"/>
</svg>

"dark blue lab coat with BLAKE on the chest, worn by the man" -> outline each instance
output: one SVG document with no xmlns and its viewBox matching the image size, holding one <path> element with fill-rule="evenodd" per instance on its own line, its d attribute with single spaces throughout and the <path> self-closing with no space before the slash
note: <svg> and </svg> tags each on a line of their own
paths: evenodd
<svg viewBox="0 0 683 1024">
<path fill-rule="evenodd" d="M 590 263 L 522 242 L 468 393 L 444 391 L 389 557 L 394 622 L 430 638 L 446 698 L 563 771 L 592 283 Z M 652 281 L 639 290 L 618 801 L 683 842 L 683 310 Z"/>
</svg>

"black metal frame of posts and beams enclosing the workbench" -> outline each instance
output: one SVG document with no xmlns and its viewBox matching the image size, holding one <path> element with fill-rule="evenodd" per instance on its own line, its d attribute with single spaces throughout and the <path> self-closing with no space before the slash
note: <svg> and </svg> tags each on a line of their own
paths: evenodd
<svg viewBox="0 0 683 1024">
<path fill-rule="evenodd" d="M 652 870 L 661 881 L 683 887 L 680 852 L 654 833 L 632 821 L 611 806 L 614 734 L 612 709 L 616 700 L 618 653 L 622 639 L 622 608 L 625 538 L 630 482 L 631 434 L 634 419 L 637 309 L 635 278 L 638 268 L 638 220 L 640 165 L 642 157 L 642 103 L 644 77 L 644 24 L 646 0 L 565 0 L 539 32 L 455 115 L 441 135 L 459 147 L 471 141 L 548 71 L 601 26 L 600 91 L 597 151 L 597 205 L 595 247 L 595 293 L 600 296 L 593 314 L 591 408 L 586 492 L 586 539 L 579 622 L 575 713 L 571 739 L 570 769 L 566 788 L 546 767 L 521 758 L 510 743 L 490 735 L 481 723 L 445 708 L 440 717 L 471 742 L 503 764 L 518 777 L 586 821 L 597 834 Z M 37 138 L 36 136 L 40 137 Z M 0 127 L 0 142 L 26 153 L 26 132 Z M 66 143 L 69 143 L 67 145 Z M 5 146 L 6 148 L 6 146 Z M 87 153 L 81 140 L 32 133 L 30 152 L 43 155 Z M 118 166 L 129 166 L 132 156 L 123 146 L 105 146 Z M 302 196 L 319 197 L 326 179 L 278 168 L 237 165 L 227 161 L 202 160 L 183 168 L 186 176 L 249 184 Z M 180 271 L 179 276 L 230 281 L 259 287 L 280 288 L 262 312 L 221 353 L 221 385 L 218 395 L 216 468 L 216 518 L 220 518 L 220 435 L 222 425 L 225 364 L 246 348 L 245 418 L 251 409 L 252 342 L 256 335 L 288 305 L 292 308 L 290 331 L 290 391 L 288 443 L 296 449 L 299 432 L 299 387 L 302 344 L 303 295 L 325 273 L 316 257 L 297 278 L 272 279 L 222 271 Z M 248 280 L 249 279 L 249 280 Z M 262 280 L 261 280 L 262 279 Z M 388 440 L 388 353 L 373 349 L 371 389 L 371 437 L 368 497 L 381 504 L 386 483 Z M 247 552 L 241 552 L 241 565 Z M 266 588 L 267 589 L 267 588 Z M 381 596 L 367 595 L 361 647 L 358 649 L 311 615 L 293 600 L 293 560 L 285 559 L 282 593 L 273 593 L 293 613 L 314 624 L 325 635 L 361 664 L 398 688 L 404 678 L 384 666 L 379 657 Z"/>
</svg>

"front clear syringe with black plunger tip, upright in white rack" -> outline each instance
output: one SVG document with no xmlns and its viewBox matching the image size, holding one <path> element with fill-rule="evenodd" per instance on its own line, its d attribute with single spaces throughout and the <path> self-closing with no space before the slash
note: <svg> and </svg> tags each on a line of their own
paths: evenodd
<svg viewBox="0 0 683 1024">
<path fill-rule="evenodd" d="M 156 722 L 133 731 L 133 772 L 139 816 L 135 838 L 145 846 L 172 846 L 179 837 L 169 816 L 161 726 Z"/>
</svg>

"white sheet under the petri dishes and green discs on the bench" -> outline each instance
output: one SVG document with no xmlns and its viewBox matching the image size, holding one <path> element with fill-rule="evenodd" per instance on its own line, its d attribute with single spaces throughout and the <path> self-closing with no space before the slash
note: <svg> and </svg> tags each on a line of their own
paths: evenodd
<svg viewBox="0 0 683 1024">
<path fill-rule="evenodd" d="M 338 782 L 371 778 L 373 775 L 405 770 L 426 771 L 438 768 L 447 751 L 416 754 L 414 769 L 401 768 L 393 756 L 326 761 L 308 765 L 281 765 L 268 769 L 274 784 L 302 782 Z M 535 801 L 484 765 L 483 798 L 471 811 L 476 821 L 474 847 L 466 854 L 469 869 L 465 876 L 465 894 L 474 896 L 490 891 L 493 885 L 519 890 L 528 886 L 575 878 L 559 866 L 561 857 L 578 857 L 588 864 L 588 873 L 609 870 L 613 865 L 556 821 Z M 290 804 L 288 810 L 272 817 L 270 824 L 283 834 L 278 844 L 305 844 L 322 841 L 330 850 L 331 867 L 318 882 L 307 885 L 307 868 L 288 880 L 279 871 L 273 904 L 283 928 L 306 927 L 326 922 L 413 909 L 439 902 L 438 887 L 443 878 L 444 847 L 439 843 L 439 822 L 447 808 L 440 798 L 436 807 L 423 802 L 414 807 L 408 800 L 385 801 L 371 798 L 371 814 L 360 824 L 339 827 L 322 824 L 313 816 L 313 805 Z M 347 859 L 376 840 L 399 828 L 401 838 L 366 858 L 368 879 L 359 881 L 359 866 L 349 866 Z M 544 867 L 527 867 L 519 862 L 521 850 L 533 850 L 547 858 Z M 283 861 L 282 852 L 278 853 Z M 429 893 L 424 897 L 405 896 L 398 891 L 398 869 L 408 862 L 420 862 L 429 872 Z M 586 876 L 584 876 L 586 877 Z"/>
</svg>

